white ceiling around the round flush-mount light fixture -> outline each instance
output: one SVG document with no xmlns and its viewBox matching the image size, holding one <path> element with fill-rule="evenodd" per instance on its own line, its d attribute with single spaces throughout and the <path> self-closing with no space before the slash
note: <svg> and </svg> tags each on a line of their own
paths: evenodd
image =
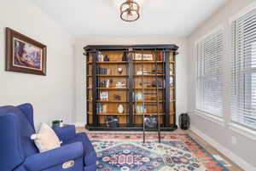
<svg viewBox="0 0 256 171">
<path fill-rule="evenodd" d="M 228 0 L 135 0 L 141 18 L 119 18 L 125 0 L 32 0 L 73 37 L 185 37 Z"/>
</svg>

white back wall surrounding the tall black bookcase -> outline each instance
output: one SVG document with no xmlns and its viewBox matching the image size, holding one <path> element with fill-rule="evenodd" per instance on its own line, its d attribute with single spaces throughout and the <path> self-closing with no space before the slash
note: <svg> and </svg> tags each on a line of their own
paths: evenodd
<svg viewBox="0 0 256 171">
<path fill-rule="evenodd" d="M 85 91 L 85 57 L 84 47 L 94 44 L 166 44 L 175 43 L 179 46 L 177 55 L 177 114 L 187 112 L 187 39 L 162 37 L 98 37 L 76 41 L 76 122 L 86 123 L 86 91 Z"/>
</svg>

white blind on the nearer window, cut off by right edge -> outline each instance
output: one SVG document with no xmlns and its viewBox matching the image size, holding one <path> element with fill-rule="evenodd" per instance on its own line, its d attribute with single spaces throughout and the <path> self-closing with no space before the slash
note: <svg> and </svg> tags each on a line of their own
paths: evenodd
<svg viewBox="0 0 256 171">
<path fill-rule="evenodd" d="M 256 129 L 256 9 L 232 22 L 231 120 Z"/>
</svg>

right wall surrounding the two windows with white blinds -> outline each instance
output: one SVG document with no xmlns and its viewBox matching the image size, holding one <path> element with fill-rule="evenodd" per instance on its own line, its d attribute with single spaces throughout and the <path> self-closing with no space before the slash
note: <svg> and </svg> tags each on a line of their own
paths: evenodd
<svg viewBox="0 0 256 171">
<path fill-rule="evenodd" d="M 220 9 L 210 19 L 208 19 L 203 25 L 201 25 L 196 31 L 189 37 L 189 57 L 188 57 L 188 108 L 191 117 L 191 128 L 197 134 L 204 136 L 203 138 L 211 141 L 210 144 L 224 152 L 224 155 L 235 160 L 237 164 L 240 164 L 242 168 L 248 171 L 256 170 L 256 141 L 248 139 L 242 134 L 237 134 L 231 131 L 228 127 L 230 123 L 230 104 L 229 104 L 229 80 L 230 80 L 230 18 L 234 16 L 238 11 L 246 7 L 253 0 L 230 0 L 223 9 Z M 207 119 L 195 115 L 193 113 L 195 109 L 195 77 L 196 77 L 196 48 L 195 43 L 198 39 L 211 32 L 218 26 L 224 26 L 225 34 L 225 53 L 224 53 L 224 126 L 217 123 L 212 123 Z M 234 136 L 237 139 L 237 145 L 231 143 L 231 137 Z M 254 168 L 253 168 L 254 167 Z"/>
</svg>

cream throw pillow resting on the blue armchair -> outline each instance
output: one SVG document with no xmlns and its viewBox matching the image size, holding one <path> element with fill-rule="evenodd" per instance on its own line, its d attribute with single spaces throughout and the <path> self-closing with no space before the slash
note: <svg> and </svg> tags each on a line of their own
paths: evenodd
<svg viewBox="0 0 256 171">
<path fill-rule="evenodd" d="M 40 152 L 53 150 L 61 147 L 61 141 L 55 134 L 54 130 L 46 123 L 42 123 L 38 134 L 32 134 L 31 140 L 34 140 Z"/>
</svg>

